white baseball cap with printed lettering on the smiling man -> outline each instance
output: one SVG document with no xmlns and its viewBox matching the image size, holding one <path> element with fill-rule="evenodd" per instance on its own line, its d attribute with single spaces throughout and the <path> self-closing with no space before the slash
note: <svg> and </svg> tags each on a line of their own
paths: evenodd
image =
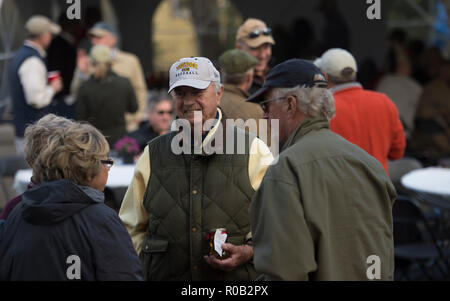
<svg viewBox="0 0 450 301">
<path fill-rule="evenodd" d="M 179 86 L 206 89 L 212 82 L 220 83 L 220 73 L 206 57 L 182 58 L 170 67 L 169 91 Z"/>
</svg>

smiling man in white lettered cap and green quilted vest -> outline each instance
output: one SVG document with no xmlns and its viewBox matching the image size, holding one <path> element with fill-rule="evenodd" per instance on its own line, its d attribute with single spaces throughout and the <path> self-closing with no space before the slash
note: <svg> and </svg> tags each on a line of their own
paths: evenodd
<svg viewBox="0 0 450 301">
<path fill-rule="evenodd" d="M 248 206 L 272 155 L 253 134 L 224 125 L 218 108 L 223 87 L 209 59 L 175 62 L 169 93 L 182 123 L 191 129 L 201 124 L 204 130 L 187 133 L 189 140 L 183 140 L 187 151 L 181 154 L 175 150 L 178 131 L 159 136 L 148 143 L 137 162 L 119 215 L 143 261 L 145 277 L 255 279 Z M 205 145 L 217 146 L 230 133 L 234 135 L 225 140 L 223 149 L 233 143 L 234 152 L 205 151 Z M 198 146 L 195 139 L 189 143 L 197 134 L 200 153 L 192 151 Z M 239 140 L 245 145 L 237 154 Z M 225 234 L 226 243 L 220 242 Z"/>
</svg>

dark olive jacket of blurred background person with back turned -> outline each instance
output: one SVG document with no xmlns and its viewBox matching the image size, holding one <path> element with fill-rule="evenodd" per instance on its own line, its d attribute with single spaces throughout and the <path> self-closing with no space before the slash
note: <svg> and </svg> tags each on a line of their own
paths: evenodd
<svg viewBox="0 0 450 301">
<path fill-rule="evenodd" d="M 89 121 L 98 128 L 111 148 L 127 133 L 125 112 L 134 113 L 137 109 L 130 81 L 112 71 L 102 80 L 92 76 L 78 90 L 76 119 Z"/>
</svg>

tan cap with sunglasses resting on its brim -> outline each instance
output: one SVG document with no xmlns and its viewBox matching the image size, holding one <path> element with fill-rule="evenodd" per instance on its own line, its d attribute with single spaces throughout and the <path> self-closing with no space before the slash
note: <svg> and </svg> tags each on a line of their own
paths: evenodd
<svg viewBox="0 0 450 301">
<path fill-rule="evenodd" d="M 275 45 L 272 38 L 272 30 L 261 20 L 249 18 L 239 27 L 236 33 L 236 41 L 243 42 L 255 48 L 264 43 Z"/>
</svg>

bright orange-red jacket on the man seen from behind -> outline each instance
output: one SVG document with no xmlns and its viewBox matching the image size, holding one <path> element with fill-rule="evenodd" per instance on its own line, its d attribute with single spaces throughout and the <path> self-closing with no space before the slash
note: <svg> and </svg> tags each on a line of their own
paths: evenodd
<svg viewBox="0 0 450 301">
<path fill-rule="evenodd" d="M 405 134 L 395 104 L 382 93 L 364 90 L 358 83 L 333 89 L 336 116 L 333 132 L 358 145 L 383 164 L 403 157 Z"/>
</svg>

